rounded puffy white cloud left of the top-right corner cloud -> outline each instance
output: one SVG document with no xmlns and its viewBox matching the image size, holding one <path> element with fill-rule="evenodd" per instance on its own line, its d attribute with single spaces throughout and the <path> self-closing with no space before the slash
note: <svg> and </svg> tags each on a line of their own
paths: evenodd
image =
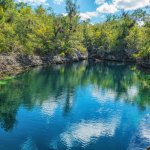
<svg viewBox="0 0 150 150">
<path fill-rule="evenodd" d="M 113 14 L 113 13 L 117 12 L 117 8 L 113 4 L 104 3 L 103 5 L 101 5 L 97 8 L 97 12 Z"/>
</svg>

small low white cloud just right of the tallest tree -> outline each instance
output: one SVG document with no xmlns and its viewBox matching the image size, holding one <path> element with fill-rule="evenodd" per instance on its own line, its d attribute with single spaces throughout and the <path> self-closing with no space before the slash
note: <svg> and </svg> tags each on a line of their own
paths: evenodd
<svg viewBox="0 0 150 150">
<path fill-rule="evenodd" d="M 80 13 L 80 17 L 81 20 L 87 20 L 87 19 L 91 19 L 93 17 L 97 17 L 98 16 L 98 12 L 85 12 L 85 13 Z"/>
</svg>

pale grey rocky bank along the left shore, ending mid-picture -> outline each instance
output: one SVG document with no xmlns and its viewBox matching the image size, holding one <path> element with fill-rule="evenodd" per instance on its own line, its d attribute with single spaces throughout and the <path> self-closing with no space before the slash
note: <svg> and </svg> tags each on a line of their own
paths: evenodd
<svg viewBox="0 0 150 150">
<path fill-rule="evenodd" d="M 6 75 L 19 73 L 25 69 L 34 66 L 44 66 L 50 64 L 62 64 L 85 60 L 88 58 L 87 53 L 76 52 L 71 56 L 38 56 L 38 55 L 21 55 L 21 54 L 0 54 L 0 78 Z"/>
</svg>

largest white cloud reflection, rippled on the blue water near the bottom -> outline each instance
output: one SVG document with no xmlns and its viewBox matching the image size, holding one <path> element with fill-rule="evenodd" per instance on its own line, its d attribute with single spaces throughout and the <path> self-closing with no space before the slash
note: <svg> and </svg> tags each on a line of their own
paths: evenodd
<svg viewBox="0 0 150 150">
<path fill-rule="evenodd" d="M 71 149 L 76 142 L 86 146 L 92 142 L 93 138 L 98 139 L 102 136 L 112 137 L 115 134 L 119 121 L 116 118 L 109 121 L 101 122 L 97 120 L 92 122 L 89 120 L 88 122 L 83 121 L 79 124 L 72 124 L 66 132 L 60 135 L 60 138 Z"/>
</svg>

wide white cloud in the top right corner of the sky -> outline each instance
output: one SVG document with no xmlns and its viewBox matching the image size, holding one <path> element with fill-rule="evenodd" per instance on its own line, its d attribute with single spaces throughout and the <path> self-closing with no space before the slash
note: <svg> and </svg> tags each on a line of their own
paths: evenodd
<svg viewBox="0 0 150 150">
<path fill-rule="evenodd" d="M 118 9 L 135 10 L 150 5 L 150 0 L 114 0 L 113 5 Z"/>
</svg>

